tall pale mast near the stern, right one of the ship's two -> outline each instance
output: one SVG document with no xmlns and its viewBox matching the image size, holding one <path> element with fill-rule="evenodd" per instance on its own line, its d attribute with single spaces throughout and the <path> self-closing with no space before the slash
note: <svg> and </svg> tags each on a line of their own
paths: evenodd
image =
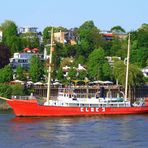
<svg viewBox="0 0 148 148">
<path fill-rule="evenodd" d="M 127 99 L 127 89 L 128 89 L 129 55 L 130 55 L 130 33 L 129 33 L 129 36 L 128 36 L 128 49 L 127 49 L 126 81 L 125 81 L 125 99 Z"/>
</svg>

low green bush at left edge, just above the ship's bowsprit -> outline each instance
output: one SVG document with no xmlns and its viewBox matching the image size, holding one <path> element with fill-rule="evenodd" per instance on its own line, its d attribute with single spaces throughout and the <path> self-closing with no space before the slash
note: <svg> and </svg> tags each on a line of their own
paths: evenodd
<svg viewBox="0 0 148 148">
<path fill-rule="evenodd" d="M 12 89 L 10 85 L 0 83 L 0 96 L 10 98 Z"/>
</svg>

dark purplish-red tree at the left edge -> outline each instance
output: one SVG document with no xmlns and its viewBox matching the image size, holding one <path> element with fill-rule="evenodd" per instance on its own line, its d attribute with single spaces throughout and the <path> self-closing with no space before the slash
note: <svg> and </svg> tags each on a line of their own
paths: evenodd
<svg viewBox="0 0 148 148">
<path fill-rule="evenodd" d="M 10 50 L 5 45 L 0 45 L 0 68 L 9 63 Z"/>
</svg>

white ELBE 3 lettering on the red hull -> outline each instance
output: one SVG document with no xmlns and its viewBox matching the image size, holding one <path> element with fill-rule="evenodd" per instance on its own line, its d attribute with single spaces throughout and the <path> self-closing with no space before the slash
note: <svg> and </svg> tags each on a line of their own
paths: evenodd
<svg viewBox="0 0 148 148">
<path fill-rule="evenodd" d="M 81 107 L 81 112 L 87 112 L 87 113 L 98 113 L 98 112 L 105 112 L 105 108 L 97 108 L 97 107 Z"/>
</svg>

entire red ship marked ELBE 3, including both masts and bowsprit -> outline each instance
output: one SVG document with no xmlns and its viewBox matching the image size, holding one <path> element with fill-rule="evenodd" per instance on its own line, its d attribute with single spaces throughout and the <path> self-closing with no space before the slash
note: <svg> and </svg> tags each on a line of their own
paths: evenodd
<svg viewBox="0 0 148 148">
<path fill-rule="evenodd" d="M 53 34 L 53 30 L 52 30 Z M 126 87 L 125 96 L 122 98 L 104 98 L 98 94 L 91 96 L 87 94 L 77 94 L 74 89 L 61 89 L 56 100 L 50 100 L 50 79 L 52 63 L 52 41 L 48 70 L 48 89 L 47 101 L 40 105 L 35 99 L 19 100 L 7 99 L 16 116 L 90 116 L 90 115 L 122 115 L 122 114 L 144 114 L 148 113 L 148 98 L 141 99 L 133 104 L 127 99 L 127 82 L 128 82 L 128 63 L 129 63 L 129 46 L 127 56 L 126 70 Z M 129 38 L 130 43 L 130 38 Z M 130 45 L 130 44 L 128 44 Z M 89 96 L 89 97 L 88 97 Z"/>
</svg>

